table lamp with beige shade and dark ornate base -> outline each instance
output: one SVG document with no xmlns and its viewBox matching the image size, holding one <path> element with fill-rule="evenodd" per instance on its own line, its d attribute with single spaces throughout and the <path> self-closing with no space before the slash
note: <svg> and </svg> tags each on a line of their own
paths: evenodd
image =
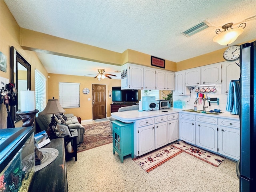
<svg viewBox="0 0 256 192">
<path fill-rule="evenodd" d="M 46 130 L 46 132 L 50 138 L 51 137 L 53 138 L 55 136 L 54 130 L 57 125 L 54 114 L 59 114 L 59 113 L 64 113 L 64 112 L 66 112 L 66 111 L 60 106 L 59 100 L 54 99 L 54 97 L 52 99 L 48 100 L 46 107 L 41 112 L 41 114 L 52 114 L 52 119 L 49 124 L 48 130 Z"/>
</svg>

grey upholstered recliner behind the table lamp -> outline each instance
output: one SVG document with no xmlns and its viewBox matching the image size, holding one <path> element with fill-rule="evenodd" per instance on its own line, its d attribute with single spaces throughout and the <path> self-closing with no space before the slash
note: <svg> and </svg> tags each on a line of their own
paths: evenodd
<svg viewBox="0 0 256 192">
<path fill-rule="evenodd" d="M 67 117 L 66 124 L 70 129 L 76 129 L 78 133 L 77 137 L 77 144 L 82 143 L 84 141 L 84 132 L 85 129 L 84 127 L 78 122 L 77 117 L 74 116 L 74 114 L 69 113 L 65 114 Z M 46 114 L 41 114 L 41 112 L 38 113 L 38 116 L 36 117 L 36 132 L 40 132 L 43 130 L 47 130 L 48 125 L 51 122 L 51 117 L 52 115 L 46 115 Z"/>
</svg>

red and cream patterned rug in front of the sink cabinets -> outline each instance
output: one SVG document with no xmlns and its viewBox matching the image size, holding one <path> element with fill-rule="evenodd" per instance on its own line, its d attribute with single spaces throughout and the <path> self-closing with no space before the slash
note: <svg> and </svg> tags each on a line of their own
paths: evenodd
<svg viewBox="0 0 256 192">
<path fill-rule="evenodd" d="M 192 155 L 195 156 L 196 158 L 199 158 L 209 164 L 212 164 L 213 166 L 218 167 L 224 160 L 225 158 L 222 156 L 218 156 L 214 153 L 202 150 L 196 146 L 190 145 L 184 141 L 178 141 L 172 144 L 172 146 Z"/>
</svg>

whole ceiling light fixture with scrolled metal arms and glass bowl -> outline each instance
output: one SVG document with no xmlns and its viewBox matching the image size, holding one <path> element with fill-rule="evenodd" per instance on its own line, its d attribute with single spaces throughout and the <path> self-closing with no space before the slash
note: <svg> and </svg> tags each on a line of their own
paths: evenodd
<svg viewBox="0 0 256 192">
<path fill-rule="evenodd" d="M 246 23 L 241 23 L 236 29 L 233 29 L 232 25 L 233 23 L 227 23 L 224 26 L 222 26 L 222 29 L 224 29 L 224 31 L 221 31 L 220 29 L 216 29 L 215 32 L 217 36 L 213 38 L 213 41 L 220 45 L 226 45 L 226 46 L 234 42 L 236 38 L 238 38 L 238 36 L 242 34 L 242 32 L 244 32 Z"/>
</svg>

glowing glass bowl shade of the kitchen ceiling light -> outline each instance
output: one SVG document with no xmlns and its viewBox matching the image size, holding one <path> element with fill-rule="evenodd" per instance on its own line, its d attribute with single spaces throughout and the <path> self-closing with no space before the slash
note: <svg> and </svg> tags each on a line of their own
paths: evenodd
<svg viewBox="0 0 256 192">
<path fill-rule="evenodd" d="M 238 38 L 238 36 L 242 34 L 242 32 L 244 32 L 243 28 L 226 30 L 215 36 L 213 38 L 213 41 L 220 45 L 228 46 L 229 44 L 234 42 L 236 38 Z"/>
</svg>

